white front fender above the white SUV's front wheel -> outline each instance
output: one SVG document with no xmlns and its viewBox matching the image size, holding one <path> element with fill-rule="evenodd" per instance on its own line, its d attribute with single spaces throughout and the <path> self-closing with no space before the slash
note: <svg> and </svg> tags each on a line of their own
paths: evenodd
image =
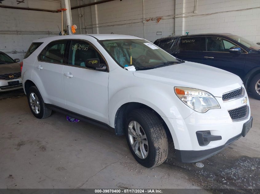
<svg viewBox="0 0 260 194">
<path fill-rule="evenodd" d="M 173 119 L 185 119 L 194 112 L 175 95 L 173 86 L 137 77 L 133 80 L 134 82 L 125 83 L 125 86 L 118 89 L 109 88 L 108 113 L 111 127 L 114 127 L 118 109 L 129 102 L 144 104 L 160 116 Z"/>
</svg>

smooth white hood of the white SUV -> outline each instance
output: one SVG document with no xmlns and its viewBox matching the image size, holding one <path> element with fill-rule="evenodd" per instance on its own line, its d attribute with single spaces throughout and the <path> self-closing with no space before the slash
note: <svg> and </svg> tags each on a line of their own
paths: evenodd
<svg viewBox="0 0 260 194">
<path fill-rule="evenodd" d="M 151 70 L 134 71 L 134 76 L 166 83 L 205 90 L 215 97 L 238 89 L 242 80 L 235 74 L 200 63 L 185 62 Z"/>
</svg>

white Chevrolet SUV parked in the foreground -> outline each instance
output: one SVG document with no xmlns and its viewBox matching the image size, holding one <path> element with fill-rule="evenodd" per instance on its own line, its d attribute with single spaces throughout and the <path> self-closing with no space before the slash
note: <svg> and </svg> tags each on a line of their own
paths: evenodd
<svg viewBox="0 0 260 194">
<path fill-rule="evenodd" d="M 142 38 L 70 35 L 33 44 L 22 84 L 34 116 L 55 110 L 112 127 L 145 167 L 166 160 L 168 141 L 182 162 L 197 162 L 252 126 L 238 76 L 176 59 Z"/>
</svg>

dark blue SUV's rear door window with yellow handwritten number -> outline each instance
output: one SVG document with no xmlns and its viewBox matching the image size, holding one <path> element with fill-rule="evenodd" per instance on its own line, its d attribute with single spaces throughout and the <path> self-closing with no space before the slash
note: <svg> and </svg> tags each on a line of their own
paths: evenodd
<svg viewBox="0 0 260 194">
<path fill-rule="evenodd" d="M 179 49 L 181 51 L 206 51 L 206 37 L 181 38 Z"/>
</svg>

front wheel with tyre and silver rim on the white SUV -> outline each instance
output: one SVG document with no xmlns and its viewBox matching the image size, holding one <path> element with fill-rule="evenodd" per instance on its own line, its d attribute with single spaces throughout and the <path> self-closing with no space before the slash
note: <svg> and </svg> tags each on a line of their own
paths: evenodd
<svg viewBox="0 0 260 194">
<path fill-rule="evenodd" d="M 166 160 L 167 136 L 162 122 L 154 112 L 145 108 L 132 111 L 127 118 L 125 130 L 130 151 L 141 165 L 152 168 Z"/>
</svg>

